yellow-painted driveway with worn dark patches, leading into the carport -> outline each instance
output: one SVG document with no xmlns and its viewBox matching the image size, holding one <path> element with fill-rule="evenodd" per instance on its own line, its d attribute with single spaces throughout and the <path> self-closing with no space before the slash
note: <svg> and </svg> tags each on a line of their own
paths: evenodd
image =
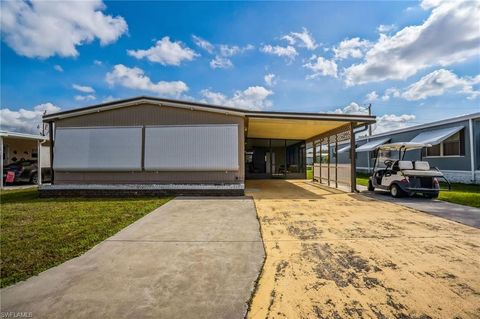
<svg viewBox="0 0 480 319">
<path fill-rule="evenodd" d="M 267 254 L 249 318 L 479 318 L 479 229 L 307 181 L 247 194 Z"/>
</svg>

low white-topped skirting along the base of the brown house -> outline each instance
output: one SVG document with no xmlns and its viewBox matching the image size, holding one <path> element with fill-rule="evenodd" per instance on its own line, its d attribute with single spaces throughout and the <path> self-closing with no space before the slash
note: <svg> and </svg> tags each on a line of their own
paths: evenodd
<svg viewBox="0 0 480 319">
<path fill-rule="evenodd" d="M 42 185 L 40 197 L 243 196 L 245 184 Z"/>
</svg>

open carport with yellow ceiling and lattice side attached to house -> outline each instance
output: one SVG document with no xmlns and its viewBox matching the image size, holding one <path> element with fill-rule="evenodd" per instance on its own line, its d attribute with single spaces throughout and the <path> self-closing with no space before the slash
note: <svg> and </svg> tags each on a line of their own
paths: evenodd
<svg viewBox="0 0 480 319">
<path fill-rule="evenodd" d="M 356 190 L 355 156 L 339 164 L 338 144 L 355 145 L 356 130 L 373 123 L 374 117 L 276 112 L 251 112 L 246 117 L 247 179 L 305 179 L 310 166 L 315 182 Z"/>
</svg>

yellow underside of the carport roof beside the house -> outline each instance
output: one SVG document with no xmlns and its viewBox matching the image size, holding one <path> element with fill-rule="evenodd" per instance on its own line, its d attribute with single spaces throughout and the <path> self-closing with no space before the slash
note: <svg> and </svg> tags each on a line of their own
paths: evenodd
<svg viewBox="0 0 480 319">
<path fill-rule="evenodd" d="M 307 140 L 348 123 L 350 122 L 249 117 L 247 137 Z"/>
</svg>

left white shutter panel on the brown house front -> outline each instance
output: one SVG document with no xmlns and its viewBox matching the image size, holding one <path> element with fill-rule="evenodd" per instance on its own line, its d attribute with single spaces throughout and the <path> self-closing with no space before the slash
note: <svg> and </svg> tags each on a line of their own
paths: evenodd
<svg viewBox="0 0 480 319">
<path fill-rule="evenodd" d="M 140 171 L 141 127 L 57 128 L 57 171 Z"/>
</svg>

